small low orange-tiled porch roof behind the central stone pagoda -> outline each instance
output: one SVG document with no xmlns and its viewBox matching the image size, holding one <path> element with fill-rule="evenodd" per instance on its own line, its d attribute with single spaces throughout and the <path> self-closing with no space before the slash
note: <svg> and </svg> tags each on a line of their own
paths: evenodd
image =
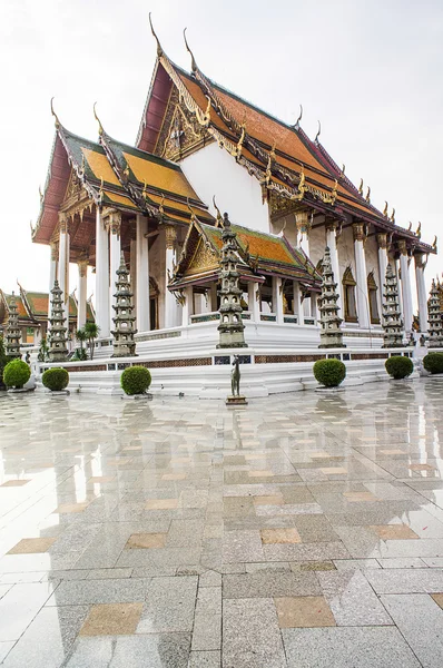
<svg viewBox="0 0 443 668">
<path fill-rule="evenodd" d="M 319 288 L 321 276 L 301 249 L 291 246 L 284 236 L 276 236 L 230 225 L 237 236 L 237 271 L 245 279 L 264 281 L 264 274 L 299 281 L 304 286 Z M 222 227 L 194 220 L 188 230 L 180 261 L 169 283 L 170 289 L 186 284 L 214 281 L 219 274 L 223 247 Z"/>
</svg>

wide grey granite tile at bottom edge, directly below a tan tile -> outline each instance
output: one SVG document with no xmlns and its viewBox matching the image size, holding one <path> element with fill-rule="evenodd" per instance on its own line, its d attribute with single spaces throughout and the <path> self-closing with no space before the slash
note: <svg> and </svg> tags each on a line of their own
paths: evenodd
<svg viewBox="0 0 443 668">
<path fill-rule="evenodd" d="M 396 628 L 283 629 L 282 636 L 287 668 L 421 668 Z"/>
</svg>

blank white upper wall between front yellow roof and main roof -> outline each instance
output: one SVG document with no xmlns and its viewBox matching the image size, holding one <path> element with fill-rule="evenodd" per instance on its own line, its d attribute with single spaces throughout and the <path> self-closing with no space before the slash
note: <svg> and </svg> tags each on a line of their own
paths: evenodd
<svg viewBox="0 0 443 668">
<path fill-rule="evenodd" d="M 269 232 L 268 207 L 262 204 L 262 189 L 255 178 L 242 165 L 213 143 L 180 163 L 199 197 L 215 215 L 213 196 L 222 214 L 227 212 L 229 220 L 237 225 Z"/>
</svg>

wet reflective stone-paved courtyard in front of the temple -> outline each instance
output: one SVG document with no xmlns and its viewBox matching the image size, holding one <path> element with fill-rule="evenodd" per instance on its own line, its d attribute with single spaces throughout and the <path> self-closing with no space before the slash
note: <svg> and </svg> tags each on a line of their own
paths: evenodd
<svg viewBox="0 0 443 668">
<path fill-rule="evenodd" d="M 0 394 L 4 668 L 443 666 L 443 379 Z"/>
</svg>

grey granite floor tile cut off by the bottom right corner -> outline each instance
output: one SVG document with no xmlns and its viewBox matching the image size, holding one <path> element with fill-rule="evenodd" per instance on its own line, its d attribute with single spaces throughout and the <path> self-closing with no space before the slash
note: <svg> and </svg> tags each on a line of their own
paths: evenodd
<svg viewBox="0 0 443 668">
<path fill-rule="evenodd" d="M 441 668 L 443 610 L 425 593 L 382 596 L 382 603 L 426 668 Z"/>
</svg>

